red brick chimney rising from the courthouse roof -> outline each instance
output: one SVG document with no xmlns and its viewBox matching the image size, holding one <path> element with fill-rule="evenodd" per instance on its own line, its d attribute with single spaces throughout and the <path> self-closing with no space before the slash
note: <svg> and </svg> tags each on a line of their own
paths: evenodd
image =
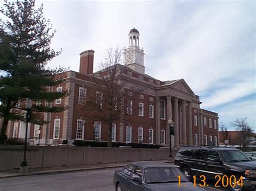
<svg viewBox="0 0 256 191">
<path fill-rule="evenodd" d="M 93 56 L 95 51 L 90 49 L 80 53 L 80 68 L 79 73 L 88 75 L 93 73 Z"/>
</svg>

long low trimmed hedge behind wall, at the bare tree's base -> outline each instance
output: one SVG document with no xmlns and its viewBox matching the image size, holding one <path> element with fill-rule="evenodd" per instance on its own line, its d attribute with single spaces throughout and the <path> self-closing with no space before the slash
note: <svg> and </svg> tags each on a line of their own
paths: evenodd
<svg viewBox="0 0 256 191">
<path fill-rule="evenodd" d="M 74 140 L 73 144 L 75 146 L 89 146 L 89 147 L 107 147 L 107 142 L 93 142 L 88 140 Z M 145 143 L 122 143 L 122 142 L 113 142 L 112 147 L 120 146 L 131 146 L 132 148 L 160 148 L 161 145 L 152 145 Z"/>
</svg>

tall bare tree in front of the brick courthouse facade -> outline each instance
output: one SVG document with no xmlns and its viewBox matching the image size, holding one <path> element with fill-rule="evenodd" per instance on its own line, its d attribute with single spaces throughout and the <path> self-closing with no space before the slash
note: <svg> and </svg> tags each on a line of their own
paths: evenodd
<svg viewBox="0 0 256 191">
<path fill-rule="evenodd" d="M 86 116 L 86 122 L 99 121 L 108 126 L 108 147 L 112 147 L 112 124 L 124 122 L 127 113 L 134 112 L 132 108 L 133 95 L 145 91 L 140 84 L 129 82 L 124 74 L 129 68 L 121 65 L 123 49 L 109 48 L 100 70 L 91 76 L 94 86 L 86 95 L 85 102 L 80 107 Z M 133 103 L 134 104 L 134 103 Z"/>
</svg>

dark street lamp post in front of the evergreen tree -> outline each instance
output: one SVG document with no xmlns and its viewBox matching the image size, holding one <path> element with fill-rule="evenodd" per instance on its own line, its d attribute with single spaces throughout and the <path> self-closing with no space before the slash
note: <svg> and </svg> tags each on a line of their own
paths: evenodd
<svg viewBox="0 0 256 191">
<path fill-rule="evenodd" d="M 24 143 L 24 155 L 23 161 L 21 162 L 21 166 L 19 167 L 19 172 L 27 173 L 28 172 L 28 162 L 26 161 L 26 139 L 28 138 L 28 125 L 31 118 L 31 107 L 32 103 L 30 101 L 26 102 L 26 134 L 25 134 L 25 143 Z"/>
</svg>

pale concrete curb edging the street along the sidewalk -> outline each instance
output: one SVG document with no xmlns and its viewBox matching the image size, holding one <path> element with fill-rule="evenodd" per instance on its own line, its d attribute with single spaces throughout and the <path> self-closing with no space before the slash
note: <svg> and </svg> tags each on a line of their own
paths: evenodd
<svg viewBox="0 0 256 191">
<path fill-rule="evenodd" d="M 164 161 L 164 162 L 165 163 L 172 163 L 173 161 Z M 124 167 L 124 166 L 126 166 L 126 164 L 116 165 L 116 166 L 102 166 L 102 167 L 56 169 L 56 170 L 49 170 L 49 171 L 44 171 L 44 172 L 31 172 L 31 173 L 24 173 L 24 174 L 2 175 L 2 176 L 0 176 L 0 179 L 14 178 L 14 177 L 19 177 L 19 176 L 41 175 L 41 174 L 57 174 L 57 173 L 65 173 L 65 172 L 77 172 L 77 171 L 93 171 L 93 170 L 96 170 L 96 169 L 119 168 L 119 167 Z"/>
</svg>

